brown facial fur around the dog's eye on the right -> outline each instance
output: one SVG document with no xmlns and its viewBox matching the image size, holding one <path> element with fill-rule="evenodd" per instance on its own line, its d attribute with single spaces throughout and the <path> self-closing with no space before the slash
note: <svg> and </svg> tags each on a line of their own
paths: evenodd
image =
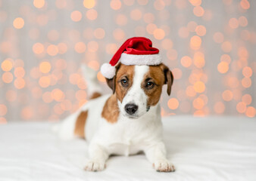
<svg viewBox="0 0 256 181">
<path fill-rule="evenodd" d="M 147 84 L 145 80 L 147 78 L 151 78 L 151 81 L 155 83 L 155 87 L 152 89 L 147 89 L 145 87 Z M 161 69 L 161 66 L 149 66 L 149 71 L 144 75 L 141 85 L 145 94 L 148 96 L 148 106 L 155 106 L 160 100 L 164 80 L 164 72 Z"/>
</svg>

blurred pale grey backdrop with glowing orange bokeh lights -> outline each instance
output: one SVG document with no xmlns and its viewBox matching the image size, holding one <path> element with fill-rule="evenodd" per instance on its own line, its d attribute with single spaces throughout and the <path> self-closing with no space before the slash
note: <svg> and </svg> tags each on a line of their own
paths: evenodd
<svg viewBox="0 0 256 181">
<path fill-rule="evenodd" d="M 0 124 L 75 112 L 87 101 L 81 63 L 98 71 L 133 36 L 173 72 L 162 115 L 254 118 L 255 17 L 247 0 L 0 0 Z"/>
</svg>

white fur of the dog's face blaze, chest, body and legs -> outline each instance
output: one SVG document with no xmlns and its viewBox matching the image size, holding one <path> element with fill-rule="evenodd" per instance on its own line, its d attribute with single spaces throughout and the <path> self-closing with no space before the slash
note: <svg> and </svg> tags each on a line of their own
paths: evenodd
<svg viewBox="0 0 256 181">
<path fill-rule="evenodd" d="M 70 137 L 73 125 L 79 113 L 88 110 L 86 119 L 85 137 L 89 142 L 89 162 L 85 169 L 98 171 L 105 169 L 105 162 L 109 155 L 134 155 L 145 152 L 148 161 L 158 171 L 173 171 L 173 164 L 166 158 L 166 149 L 162 140 L 161 108 L 160 105 L 151 106 L 146 112 L 147 96 L 142 90 L 141 83 L 148 66 L 136 66 L 133 76 L 133 85 L 118 103 L 120 114 L 116 123 L 109 123 L 101 117 L 106 100 L 111 95 L 90 100 L 75 114 L 66 118 L 59 130 L 62 137 L 66 131 Z M 124 106 L 126 103 L 136 103 L 139 106 L 136 118 L 129 118 Z M 117 108 L 113 108 L 117 109 Z"/>
</svg>

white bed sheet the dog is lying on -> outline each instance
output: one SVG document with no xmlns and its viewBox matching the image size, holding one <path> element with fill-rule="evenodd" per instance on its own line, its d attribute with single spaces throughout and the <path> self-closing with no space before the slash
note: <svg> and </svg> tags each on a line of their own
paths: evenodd
<svg viewBox="0 0 256 181">
<path fill-rule="evenodd" d="M 0 125 L 0 180 L 256 180 L 256 119 L 163 118 L 174 173 L 158 173 L 145 155 L 111 157 L 106 170 L 83 170 L 84 140 L 60 140 L 47 122 Z"/>
</svg>

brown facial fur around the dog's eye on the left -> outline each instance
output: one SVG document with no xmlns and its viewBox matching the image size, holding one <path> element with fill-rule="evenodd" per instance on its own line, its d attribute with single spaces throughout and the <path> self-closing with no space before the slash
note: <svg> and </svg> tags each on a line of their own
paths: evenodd
<svg viewBox="0 0 256 181">
<path fill-rule="evenodd" d="M 133 76 L 134 76 L 134 66 L 126 66 L 123 64 L 120 64 L 120 67 L 117 71 L 117 77 L 116 77 L 116 95 L 117 95 L 117 99 L 120 100 L 120 102 L 123 102 L 123 97 L 125 97 L 125 95 L 127 94 L 128 90 L 130 89 L 130 87 L 132 87 L 133 85 Z M 123 87 L 121 84 L 121 80 L 126 77 L 128 78 L 128 86 L 127 87 Z"/>
</svg>

